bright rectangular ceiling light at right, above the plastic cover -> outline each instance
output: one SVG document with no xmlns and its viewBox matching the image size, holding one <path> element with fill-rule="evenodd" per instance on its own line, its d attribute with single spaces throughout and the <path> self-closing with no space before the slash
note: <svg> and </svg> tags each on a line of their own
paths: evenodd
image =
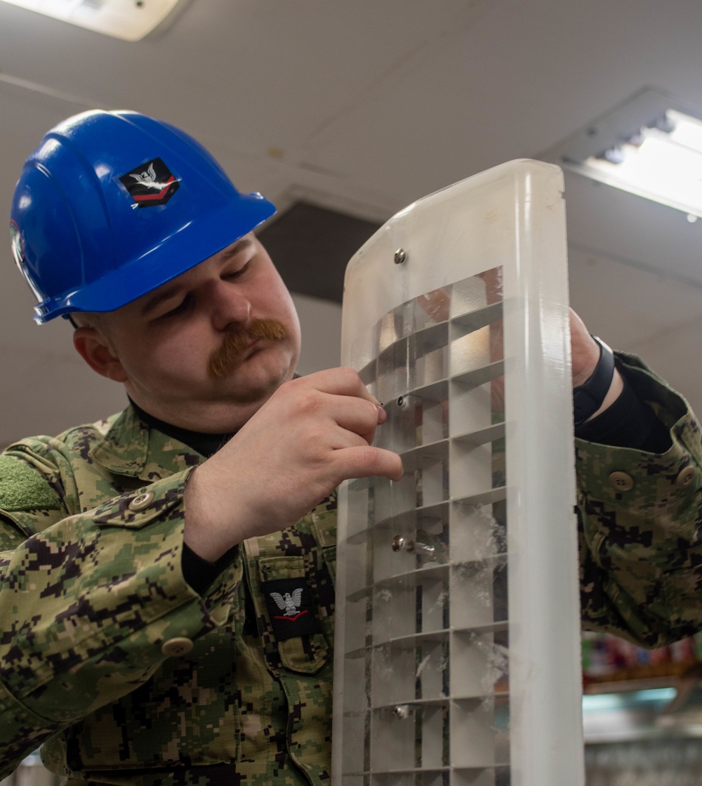
<svg viewBox="0 0 702 786">
<path fill-rule="evenodd" d="M 644 90 L 545 156 L 565 169 L 702 218 L 702 121 Z"/>
</svg>

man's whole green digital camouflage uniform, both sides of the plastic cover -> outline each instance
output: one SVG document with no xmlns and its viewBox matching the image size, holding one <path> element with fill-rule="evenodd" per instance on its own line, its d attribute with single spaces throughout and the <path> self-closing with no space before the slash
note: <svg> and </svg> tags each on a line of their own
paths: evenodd
<svg viewBox="0 0 702 786">
<path fill-rule="evenodd" d="M 700 432 L 626 362 L 674 444 L 656 456 L 578 441 L 583 619 L 660 645 L 702 627 Z M 328 779 L 334 502 L 247 542 L 201 597 L 181 548 L 202 458 L 133 410 L 0 457 L 0 775 L 44 742 L 74 784 Z M 634 486 L 612 487 L 612 472 Z M 283 585 L 308 588 L 319 630 L 276 637 L 265 596 Z"/>
</svg>

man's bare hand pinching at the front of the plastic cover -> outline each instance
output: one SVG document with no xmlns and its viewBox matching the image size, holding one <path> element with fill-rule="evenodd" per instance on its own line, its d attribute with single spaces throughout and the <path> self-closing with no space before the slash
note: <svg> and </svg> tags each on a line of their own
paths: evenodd
<svg viewBox="0 0 702 786">
<path fill-rule="evenodd" d="M 281 385 L 185 490 L 185 543 L 215 561 L 246 538 L 289 527 L 342 480 L 402 477 L 400 457 L 372 447 L 386 413 L 353 369 Z"/>
</svg>

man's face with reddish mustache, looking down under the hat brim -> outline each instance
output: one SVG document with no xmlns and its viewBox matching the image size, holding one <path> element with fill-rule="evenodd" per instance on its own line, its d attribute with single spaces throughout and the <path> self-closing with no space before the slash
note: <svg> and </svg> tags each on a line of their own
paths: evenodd
<svg viewBox="0 0 702 786">
<path fill-rule="evenodd" d="M 142 409 L 204 432 L 239 428 L 291 379 L 300 326 L 265 248 L 243 237 L 104 315 L 113 379 Z"/>
</svg>

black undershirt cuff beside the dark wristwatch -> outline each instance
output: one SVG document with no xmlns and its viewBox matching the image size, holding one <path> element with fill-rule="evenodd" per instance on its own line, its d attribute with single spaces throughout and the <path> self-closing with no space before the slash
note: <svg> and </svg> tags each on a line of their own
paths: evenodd
<svg viewBox="0 0 702 786">
<path fill-rule="evenodd" d="M 619 363 L 617 368 L 622 373 Z M 673 444 L 670 431 L 639 398 L 624 373 L 622 379 L 624 387 L 619 398 L 598 417 L 576 426 L 576 437 L 600 445 L 665 453 Z"/>
</svg>

